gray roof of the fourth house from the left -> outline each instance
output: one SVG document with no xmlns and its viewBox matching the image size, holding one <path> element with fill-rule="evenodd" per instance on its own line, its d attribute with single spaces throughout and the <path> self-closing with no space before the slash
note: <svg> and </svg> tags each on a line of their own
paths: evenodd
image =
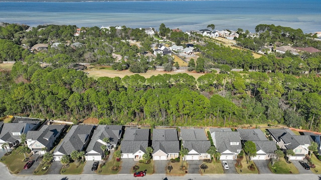
<svg viewBox="0 0 321 180">
<path fill-rule="evenodd" d="M 98 140 L 103 140 L 105 137 L 107 137 L 110 140 L 109 144 L 116 145 L 120 139 L 122 128 L 122 125 L 98 125 L 94 130 L 86 152 L 94 150 L 100 154 L 103 154 L 103 150 L 100 147 L 104 144 Z"/>
</svg>

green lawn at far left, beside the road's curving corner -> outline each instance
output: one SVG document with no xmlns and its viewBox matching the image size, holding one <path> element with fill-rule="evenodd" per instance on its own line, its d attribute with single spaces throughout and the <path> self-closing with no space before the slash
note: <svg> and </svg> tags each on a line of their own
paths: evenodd
<svg viewBox="0 0 321 180">
<path fill-rule="evenodd" d="M 1 161 L 7 164 L 9 171 L 13 174 L 19 173 L 21 170 L 24 169 L 26 162 L 23 160 L 25 156 L 23 153 L 20 152 L 21 147 L 14 149 L 10 155 L 3 156 Z"/>
</svg>

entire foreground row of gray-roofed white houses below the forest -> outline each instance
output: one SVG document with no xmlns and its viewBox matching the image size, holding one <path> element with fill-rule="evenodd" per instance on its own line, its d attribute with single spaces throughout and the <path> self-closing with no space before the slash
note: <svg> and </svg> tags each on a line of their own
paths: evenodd
<svg viewBox="0 0 321 180">
<path fill-rule="evenodd" d="M 13 149 L 21 143 L 21 134 L 26 135 L 26 144 L 33 153 L 44 154 L 51 150 L 54 142 L 63 137 L 53 151 L 54 160 L 74 150 L 85 151 L 86 160 L 102 160 L 105 150 L 120 145 L 121 157 L 140 160 L 146 148 L 152 146 L 153 160 L 169 160 L 179 157 L 181 147 L 188 149 L 186 160 L 211 158 L 207 150 L 210 138 L 204 128 L 137 128 L 122 125 L 72 125 L 66 133 L 67 125 L 41 125 L 41 119 L 15 117 L 11 123 L 0 122 L 0 145 Z M 38 129 L 38 130 L 37 130 Z M 269 128 L 267 134 L 261 129 L 209 128 L 210 135 L 220 159 L 236 159 L 242 150 L 242 142 L 251 140 L 256 145 L 253 160 L 266 160 L 274 155 L 278 145 L 282 149 L 293 149 L 290 159 L 301 160 L 308 153 L 308 146 L 317 134 L 296 135 L 288 128 Z M 273 140 L 269 140 L 267 135 Z M 312 138 L 313 139 L 312 139 Z M 5 146 L 3 146 L 5 144 Z"/>
</svg>

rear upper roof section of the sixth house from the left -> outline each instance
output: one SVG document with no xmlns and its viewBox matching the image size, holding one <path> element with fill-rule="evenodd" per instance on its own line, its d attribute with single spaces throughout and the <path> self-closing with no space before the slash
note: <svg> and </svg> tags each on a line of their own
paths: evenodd
<svg viewBox="0 0 321 180">
<path fill-rule="evenodd" d="M 171 129 L 153 129 L 152 140 L 179 140 L 176 128 Z"/>
</svg>

